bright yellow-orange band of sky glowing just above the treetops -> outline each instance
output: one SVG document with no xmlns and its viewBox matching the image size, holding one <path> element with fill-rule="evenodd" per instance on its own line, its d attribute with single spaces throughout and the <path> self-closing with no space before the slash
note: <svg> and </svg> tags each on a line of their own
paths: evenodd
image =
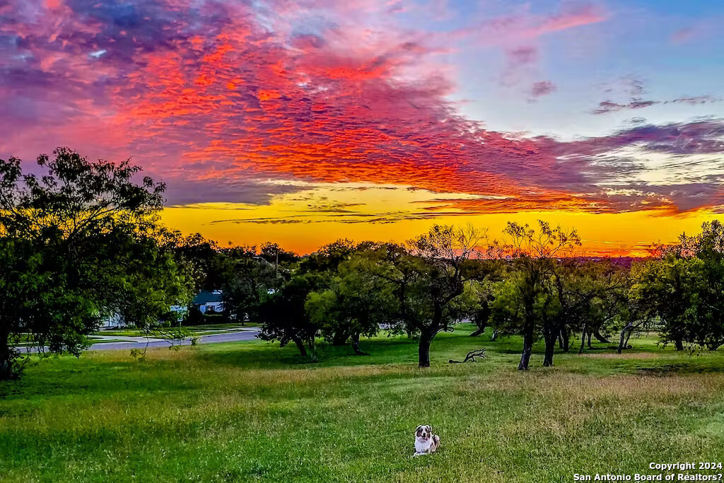
<svg viewBox="0 0 724 483">
<path fill-rule="evenodd" d="M 296 193 L 274 196 L 267 205 L 203 203 L 164 209 L 168 227 L 184 234 L 200 232 L 219 245 L 279 243 L 297 253 L 311 253 L 339 238 L 400 242 L 425 232 L 433 224 L 468 224 L 486 228 L 489 238 L 501 238 L 508 221 L 536 226 L 576 228 L 589 254 L 646 256 L 651 243 L 670 243 L 682 232 L 698 232 L 716 214 L 697 211 L 671 215 L 662 211 L 591 214 L 574 211 L 521 211 L 498 214 L 445 214 L 431 209 L 432 199 L 468 198 L 458 193 L 431 193 L 399 186 L 313 185 Z M 458 211 L 459 213 L 459 211 Z M 439 216 L 438 216 L 439 215 Z"/>
</svg>

